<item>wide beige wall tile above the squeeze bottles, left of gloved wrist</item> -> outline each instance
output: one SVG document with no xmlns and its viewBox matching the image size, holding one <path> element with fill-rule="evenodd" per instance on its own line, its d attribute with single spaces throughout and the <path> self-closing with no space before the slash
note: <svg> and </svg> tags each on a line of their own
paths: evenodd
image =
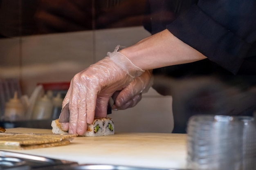
<svg viewBox="0 0 256 170">
<path fill-rule="evenodd" d="M 31 94 L 37 83 L 70 82 L 93 63 L 92 32 L 22 38 L 22 87 Z"/>
</svg>

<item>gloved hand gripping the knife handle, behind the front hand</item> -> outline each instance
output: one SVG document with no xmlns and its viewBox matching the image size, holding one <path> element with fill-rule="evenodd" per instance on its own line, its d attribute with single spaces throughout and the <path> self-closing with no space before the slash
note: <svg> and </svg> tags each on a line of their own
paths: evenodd
<svg viewBox="0 0 256 170">
<path fill-rule="evenodd" d="M 152 70 L 146 70 L 142 75 L 136 77 L 123 90 L 115 92 L 112 97 L 115 104 L 113 110 L 124 110 L 134 107 L 142 98 L 142 93 L 148 92 L 153 85 Z"/>
</svg>

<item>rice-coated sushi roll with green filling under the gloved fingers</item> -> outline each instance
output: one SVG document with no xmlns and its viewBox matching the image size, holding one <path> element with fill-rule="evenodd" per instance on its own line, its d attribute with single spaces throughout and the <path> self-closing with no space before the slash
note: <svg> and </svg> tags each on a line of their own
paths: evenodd
<svg viewBox="0 0 256 170">
<path fill-rule="evenodd" d="M 114 121 L 111 118 L 99 118 L 95 117 L 92 124 L 87 125 L 87 130 L 81 136 L 85 137 L 97 137 L 97 136 L 107 136 L 114 135 Z M 52 121 L 52 132 L 58 134 L 68 133 L 67 131 L 61 130 L 61 126 L 58 122 L 58 119 Z"/>
</svg>

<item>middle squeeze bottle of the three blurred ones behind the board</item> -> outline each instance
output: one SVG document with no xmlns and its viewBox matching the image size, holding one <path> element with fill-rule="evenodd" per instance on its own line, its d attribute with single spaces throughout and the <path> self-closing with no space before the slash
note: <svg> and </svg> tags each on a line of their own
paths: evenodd
<svg viewBox="0 0 256 170">
<path fill-rule="evenodd" d="M 34 120 L 51 119 L 52 118 L 52 101 L 47 95 L 39 98 L 34 106 L 32 113 Z"/>
</svg>

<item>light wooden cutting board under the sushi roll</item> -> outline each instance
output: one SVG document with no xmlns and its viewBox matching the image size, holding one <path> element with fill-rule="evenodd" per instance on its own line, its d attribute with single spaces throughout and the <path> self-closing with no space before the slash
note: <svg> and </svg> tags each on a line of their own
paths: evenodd
<svg viewBox="0 0 256 170">
<path fill-rule="evenodd" d="M 49 129 L 10 128 L 6 132 L 52 133 Z M 148 168 L 186 168 L 186 134 L 119 133 L 103 137 L 75 137 L 66 146 L 8 150 L 79 164 L 115 164 Z"/>
</svg>

